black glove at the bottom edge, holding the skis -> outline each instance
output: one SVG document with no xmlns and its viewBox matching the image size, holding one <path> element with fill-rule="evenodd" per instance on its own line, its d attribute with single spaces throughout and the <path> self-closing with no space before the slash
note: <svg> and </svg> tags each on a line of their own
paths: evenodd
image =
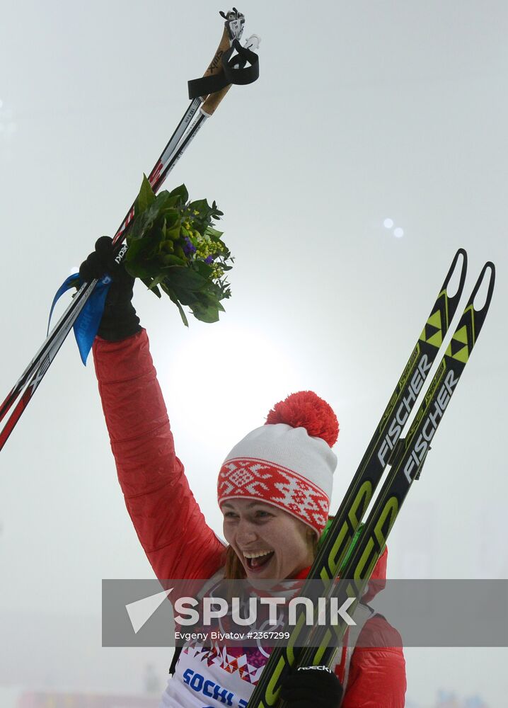
<svg viewBox="0 0 508 708">
<path fill-rule="evenodd" d="M 301 666 L 284 681 L 280 697 L 290 708 L 338 708 L 343 692 L 328 666 Z"/>
</svg>

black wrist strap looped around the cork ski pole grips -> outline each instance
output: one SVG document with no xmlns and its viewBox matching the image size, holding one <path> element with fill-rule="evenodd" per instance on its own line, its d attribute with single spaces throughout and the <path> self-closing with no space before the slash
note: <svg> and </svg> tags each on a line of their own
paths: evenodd
<svg viewBox="0 0 508 708">
<path fill-rule="evenodd" d="M 231 57 L 233 51 L 237 55 Z M 216 93 L 229 84 L 246 86 L 253 84 L 259 77 L 259 57 L 248 47 L 242 47 L 238 40 L 233 40 L 229 50 L 222 55 L 222 72 L 211 76 L 202 76 L 200 79 L 192 79 L 187 82 L 189 98 L 198 96 L 208 96 L 209 93 Z M 246 66 L 250 64 L 250 66 Z"/>
</svg>

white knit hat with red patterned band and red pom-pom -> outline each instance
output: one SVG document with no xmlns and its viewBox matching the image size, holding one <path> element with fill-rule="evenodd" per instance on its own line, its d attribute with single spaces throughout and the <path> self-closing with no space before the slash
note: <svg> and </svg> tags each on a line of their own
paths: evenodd
<svg viewBox="0 0 508 708">
<path fill-rule="evenodd" d="M 287 511 L 321 535 L 328 520 L 333 472 L 331 450 L 339 424 L 311 391 L 278 403 L 267 422 L 229 452 L 219 472 L 219 506 L 227 499 L 258 499 Z"/>
</svg>

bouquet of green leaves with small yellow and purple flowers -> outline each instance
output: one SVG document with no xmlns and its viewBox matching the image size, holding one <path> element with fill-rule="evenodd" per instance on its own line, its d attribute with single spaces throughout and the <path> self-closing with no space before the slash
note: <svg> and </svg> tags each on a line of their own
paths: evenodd
<svg viewBox="0 0 508 708">
<path fill-rule="evenodd" d="M 221 300 L 231 296 L 226 272 L 233 258 L 212 220 L 222 215 L 215 202 L 190 202 L 185 185 L 156 196 L 146 176 L 134 202 L 125 268 L 157 297 L 165 292 L 185 326 L 184 305 L 196 319 L 217 322 Z"/>
</svg>

